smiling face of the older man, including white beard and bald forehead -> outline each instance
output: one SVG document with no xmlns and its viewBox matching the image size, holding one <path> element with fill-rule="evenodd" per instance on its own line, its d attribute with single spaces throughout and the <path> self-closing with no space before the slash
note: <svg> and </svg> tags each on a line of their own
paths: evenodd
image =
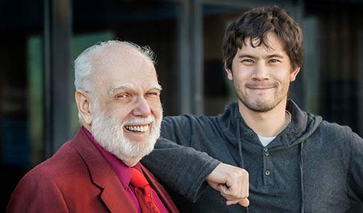
<svg viewBox="0 0 363 213">
<path fill-rule="evenodd" d="M 154 65 L 130 47 L 110 45 L 95 55 L 93 69 L 90 131 L 103 148 L 135 165 L 159 138 L 161 87 Z"/>
</svg>

